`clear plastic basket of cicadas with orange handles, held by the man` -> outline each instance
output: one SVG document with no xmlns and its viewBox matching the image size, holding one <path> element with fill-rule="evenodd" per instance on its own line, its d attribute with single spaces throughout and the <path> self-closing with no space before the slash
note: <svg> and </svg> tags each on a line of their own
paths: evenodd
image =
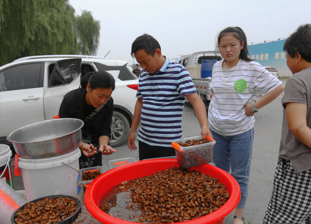
<svg viewBox="0 0 311 224">
<path fill-rule="evenodd" d="M 177 163 L 184 168 L 190 168 L 211 163 L 215 143 L 212 138 L 206 137 L 203 140 L 202 136 L 196 136 L 179 140 L 178 143 L 173 142 L 172 147 L 176 152 Z"/>
</svg>

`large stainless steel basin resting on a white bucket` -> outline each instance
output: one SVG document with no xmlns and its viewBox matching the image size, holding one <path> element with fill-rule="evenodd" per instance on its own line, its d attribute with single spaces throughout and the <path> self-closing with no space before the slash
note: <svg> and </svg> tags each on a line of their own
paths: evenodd
<svg viewBox="0 0 311 224">
<path fill-rule="evenodd" d="M 46 159 L 74 151 L 81 143 L 84 122 L 60 118 L 27 125 L 7 136 L 17 155 L 24 159 Z"/>
</svg>

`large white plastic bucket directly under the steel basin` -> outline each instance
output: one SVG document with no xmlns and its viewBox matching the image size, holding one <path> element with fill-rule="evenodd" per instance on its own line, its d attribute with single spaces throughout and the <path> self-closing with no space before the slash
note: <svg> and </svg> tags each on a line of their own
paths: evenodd
<svg viewBox="0 0 311 224">
<path fill-rule="evenodd" d="M 70 195 L 81 201 L 78 171 L 80 156 L 81 151 L 77 148 L 63 156 L 49 159 L 18 158 L 27 201 L 55 194 Z"/>
</svg>

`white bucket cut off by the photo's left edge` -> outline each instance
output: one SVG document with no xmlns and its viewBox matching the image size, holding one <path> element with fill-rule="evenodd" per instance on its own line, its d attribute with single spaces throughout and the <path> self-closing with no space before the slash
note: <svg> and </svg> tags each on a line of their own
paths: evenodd
<svg viewBox="0 0 311 224">
<path fill-rule="evenodd" d="M 13 188 L 11 156 L 12 151 L 10 146 L 0 144 L 0 176 L 1 178 L 5 178 L 6 183 Z"/>
</svg>

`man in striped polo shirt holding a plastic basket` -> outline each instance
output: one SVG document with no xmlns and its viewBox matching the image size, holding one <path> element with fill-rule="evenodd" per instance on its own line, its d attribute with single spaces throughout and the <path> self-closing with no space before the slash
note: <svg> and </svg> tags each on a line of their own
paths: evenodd
<svg viewBox="0 0 311 224">
<path fill-rule="evenodd" d="M 141 122 L 138 132 L 139 160 L 175 156 L 172 142 L 183 138 L 181 120 L 185 97 L 194 108 L 202 137 L 212 137 L 205 105 L 195 90 L 188 70 L 163 56 L 159 43 L 149 34 L 136 38 L 131 54 L 143 68 L 127 140 L 130 150 L 136 150 L 135 133 Z"/>
</svg>

